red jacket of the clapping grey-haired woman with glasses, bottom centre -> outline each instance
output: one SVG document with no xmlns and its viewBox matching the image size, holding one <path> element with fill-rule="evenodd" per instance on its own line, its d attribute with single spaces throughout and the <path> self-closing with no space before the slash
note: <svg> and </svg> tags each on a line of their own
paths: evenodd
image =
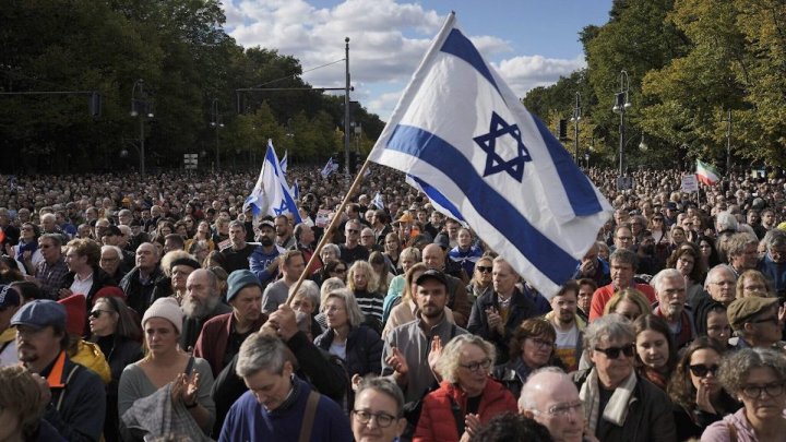
<svg viewBox="0 0 786 442">
<path fill-rule="evenodd" d="M 438 390 L 424 398 L 413 442 L 458 441 L 461 434 L 453 417 L 450 397 L 461 407 L 461 414 L 466 415 L 466 394 L 457 385 L 442 382 Z M 486 425 L 492 417 L 504 411 L 517 413 L 515 398 L 502 384 L 489 378 L 478 407 L 480 422 Z"/>
</svg>

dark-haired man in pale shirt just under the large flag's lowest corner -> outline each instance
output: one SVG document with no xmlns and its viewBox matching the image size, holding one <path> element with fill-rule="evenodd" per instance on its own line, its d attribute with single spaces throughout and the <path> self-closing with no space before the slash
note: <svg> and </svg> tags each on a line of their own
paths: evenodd
<svg viewBox="0 0 786 442">
<path fill-rule="evenodd" d="M 586 322 L 579 316 L 577 310 L 579 283 L 567 282 L 551 298 L 551 311 L 546 320 L 557 332 L 555 354 L 560 358 L 568 372 L 579 369 L 579 360 L 583 351 L 584 328 Z"/>
</svg>

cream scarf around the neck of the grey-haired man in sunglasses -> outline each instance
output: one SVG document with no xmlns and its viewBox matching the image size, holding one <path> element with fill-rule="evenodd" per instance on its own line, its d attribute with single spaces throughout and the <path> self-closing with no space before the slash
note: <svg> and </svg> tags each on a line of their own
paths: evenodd
<svg viewBox="0 0 786 442">
<path fill-rule="evenodd" d="M 579 397 L 584 402 L 584 416 L 587 419 L 588 432 L 595 434 L 597 429 L 598 416 L 603 413 L 603 418 L 607 421 L 622 427 L 626 417 L 628 417 L 628 404 L 633 399 L 633 389 L 636 385 L 635 372 L 626 379 L 617 389 L 615 389 L 611 398 L 606 408 L 600 409 L 600 380 L 598 380 L 596 369 L 590 370 L 586 381 L 579 392 Z M 597 435 L 597 434 L 595 434 Z"/>
</svg>

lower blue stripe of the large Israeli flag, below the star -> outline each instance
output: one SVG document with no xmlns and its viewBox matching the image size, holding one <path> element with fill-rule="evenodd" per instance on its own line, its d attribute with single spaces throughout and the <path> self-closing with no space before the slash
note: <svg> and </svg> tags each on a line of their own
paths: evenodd
<svg viewBox="0 0 786 442">
<path fill-rule="evenodd" d="M 464 192 L 478 214 L 555 284 L 564 283 L 575 272 L 579 261 L 529 224 L 529 220 L 490 187 L 477 174 L 472 163 L 446 141 L 422 129 L 398 124 L 386 147 L 415 156 L 446 177 L 453 177 L 453 183 Z"/>
</svg>

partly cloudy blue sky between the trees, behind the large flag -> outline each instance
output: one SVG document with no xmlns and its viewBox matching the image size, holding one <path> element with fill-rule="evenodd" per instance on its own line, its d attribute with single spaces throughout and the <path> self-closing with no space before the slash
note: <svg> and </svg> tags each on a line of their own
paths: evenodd
<svg viewBox="0 0 786 442">
<path fill-rule="evenodd" d="M 579 32 L 608 21 L 611 0 L 225 0 L 238 44 L 293 55 L 303 69 L 344 58 L 352 98 L 383 120 L 451 10 L 484 57 L 524 96 L 582 68 Z M 314 86 L 344 85 L 344 63 L 306 73 Z"/>
</svg>

